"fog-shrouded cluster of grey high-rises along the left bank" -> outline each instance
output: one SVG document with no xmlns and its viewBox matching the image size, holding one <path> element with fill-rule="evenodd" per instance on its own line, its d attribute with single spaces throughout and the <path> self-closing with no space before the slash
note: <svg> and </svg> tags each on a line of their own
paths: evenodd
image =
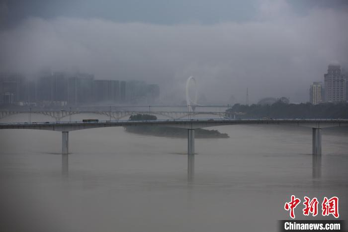
<svg viewBox="0 0 348 232">
<path fill-rule="evenodd" d="M 87 73 L 41 72 L 27 79 L 0 73 L 0 106 L 83 106 L 90 104 L 156 104 L 160 87 L 144 81 L 98 80 Z"/>
</svg>

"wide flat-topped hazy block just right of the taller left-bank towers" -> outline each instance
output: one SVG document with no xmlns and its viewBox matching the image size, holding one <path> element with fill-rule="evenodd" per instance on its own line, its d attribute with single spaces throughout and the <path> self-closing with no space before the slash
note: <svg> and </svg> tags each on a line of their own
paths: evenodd
<svg viewBox="0 0 348 232">
<path fill-rule="evenodd" d="M 119 100 L 119 81 L 94 80 L 93 98 L 95 102 L 112 102 Z"/>
</svg>

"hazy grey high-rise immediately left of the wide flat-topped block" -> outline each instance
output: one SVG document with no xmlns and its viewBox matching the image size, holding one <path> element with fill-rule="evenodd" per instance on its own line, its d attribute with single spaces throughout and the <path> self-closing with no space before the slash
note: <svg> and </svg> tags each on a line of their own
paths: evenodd
<svg viewBox="0 0 348 232">
<path fill-rule="evenodd" d="M 86 105 L 92 102 L 94 76 L 76 73 L 68 79 L 68 104 Z"/>
</svg>

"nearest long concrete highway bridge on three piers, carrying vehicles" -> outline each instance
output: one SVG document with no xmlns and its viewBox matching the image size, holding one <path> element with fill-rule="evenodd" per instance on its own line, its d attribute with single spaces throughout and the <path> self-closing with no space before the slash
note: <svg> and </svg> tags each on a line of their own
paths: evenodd
<svg viewBox="0 0 348 232">
<path fill-rule="evenodd" d="M 348 119 L 167 119 L 167 120 L 108 120 L 108 121 L 75 121 L 75 122 L 20 122 L 0 123 L 0 129 L 39 129 L 62 132 L 62 154 L 69 153 L 69 131 L 113 127 L 161 125 L 187 129 L 187 154 L 194 155 L 194 129 L 221 125 L 291 125 L 312 128 L 313 155 L 321 155 L 321 130 L 325 127 L 348 126 Z"/>
</svg>

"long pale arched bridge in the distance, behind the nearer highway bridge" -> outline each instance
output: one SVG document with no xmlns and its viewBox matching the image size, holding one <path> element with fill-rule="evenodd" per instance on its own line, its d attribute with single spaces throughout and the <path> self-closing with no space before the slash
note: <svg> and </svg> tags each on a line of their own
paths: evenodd
<svg viewBox="0 0 348 232">
<path fill-rule="evenodd" d="M 32 114 L 40 114 L 44 116 L 53 117 L 56 121 L 61 121 L 63 118 L 70 117 L 79 114 L 96 114 L 109 117 L 109 120 L 125 119 L 131 115 L 147 114 L 155 116 L 165 116 L 169 119 L 182 119 L 197 115 L 211 115 L 218 116 L 220 118 L 232 118 L 235 115 L 241 115 L 243 113 L 229 113 L 225 112 L 187 112 L 187 111 L 0 111 L 0 119 L 6 116 L 12 116 L 17 114 L 26 114 L 31 117 Z M 31 119 L 29 119 L 31 122 Z"/>
</svg>

